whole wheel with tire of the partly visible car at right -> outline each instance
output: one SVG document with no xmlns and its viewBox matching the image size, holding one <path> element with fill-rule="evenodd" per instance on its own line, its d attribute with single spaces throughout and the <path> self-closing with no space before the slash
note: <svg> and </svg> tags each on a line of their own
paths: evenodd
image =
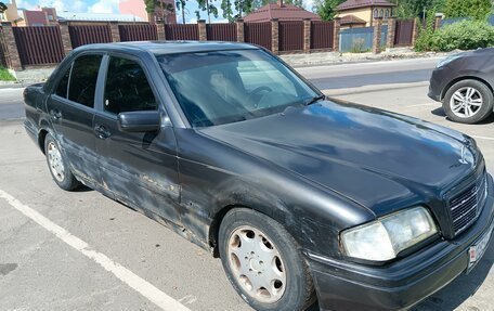
<svg viewBox="0 0 494 311">
<path fill-rule="evenodd" d="M 471 93 L 470 93 L 471 92 Z M 453 85 L 443 99 L 446 116 L 461 124 L 477 124 L 493 112 L 494 96 L 491 89 L 478 80 L 461 80 Z"/>
</svg>

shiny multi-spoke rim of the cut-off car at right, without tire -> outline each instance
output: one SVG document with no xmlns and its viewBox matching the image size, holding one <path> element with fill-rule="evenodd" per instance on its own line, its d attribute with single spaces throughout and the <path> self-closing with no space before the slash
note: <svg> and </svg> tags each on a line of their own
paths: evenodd
<svg viewBox="0 0 494 311">
<path fill-rule="evenodd" d="M 482 103 L 482 94 L 474 88 L 466 87 L 453 93 L 450 107 L 456 116 L 469 118 L 479 113 Z"/>
</svg>

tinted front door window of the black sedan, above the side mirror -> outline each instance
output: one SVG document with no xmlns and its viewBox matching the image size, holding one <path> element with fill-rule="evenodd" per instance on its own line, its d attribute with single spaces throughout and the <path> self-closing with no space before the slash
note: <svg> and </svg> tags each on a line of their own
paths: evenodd
<svg viewBox="0 0 494 311">
<path fill-rule="evenodd" d="M 136 62 L 109 59 L 103 108 L 115 115 L 158 108 L 146 75 Z"/>
</svg>

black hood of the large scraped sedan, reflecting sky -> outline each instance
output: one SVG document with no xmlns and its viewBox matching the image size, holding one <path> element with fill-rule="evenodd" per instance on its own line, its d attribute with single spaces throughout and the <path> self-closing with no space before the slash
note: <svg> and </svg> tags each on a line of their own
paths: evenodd
<svg viewBox="0 0 494 311">
<path fill-rule="evenodd" d="M 203 133 L 337 192 L 377 216 L 441 197 L 445 187 L 471 173 L 476 163 L 474 147 L 464 147 L 470 139 L 456 131 L 336 101 L 288 107 Z"/>
</svg>

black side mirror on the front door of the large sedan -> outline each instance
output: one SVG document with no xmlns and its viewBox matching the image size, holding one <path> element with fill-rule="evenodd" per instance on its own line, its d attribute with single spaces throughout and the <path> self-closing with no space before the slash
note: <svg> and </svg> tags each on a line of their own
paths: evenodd
<svg viewBox="0 0 494 311">
<path fill-rule="evenodd" d="M 118 114 L 118 129 L 123 132 L 153 132 L 160 127 L 161 115 L 158 111 Z"/>
</svg>

